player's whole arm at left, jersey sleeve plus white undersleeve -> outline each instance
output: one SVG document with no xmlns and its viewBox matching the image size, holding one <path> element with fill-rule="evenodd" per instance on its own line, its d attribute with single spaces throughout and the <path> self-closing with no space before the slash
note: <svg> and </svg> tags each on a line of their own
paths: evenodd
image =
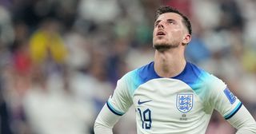
<svg viewBox="0 0 256 134">
<path fill-rule="evenodd" d="M 106 104 L 102 108 L 102 111 L 99 112 L 97 119 L 94 124 L 94 132 L 95 134 L 112 134 L 112 128 L 114 124 L 118 122 L 120 117 L 125 114 L 130 108 L 131 104 L 133 104 L 132 98 L 130 97 L 129 89 L 127 83 L 130 84 L 131 87 L 133 82 L 127 82 L 130 80 L 129 74 L 122 77 L 114 89 L 114 93 Z"/>
</svg>

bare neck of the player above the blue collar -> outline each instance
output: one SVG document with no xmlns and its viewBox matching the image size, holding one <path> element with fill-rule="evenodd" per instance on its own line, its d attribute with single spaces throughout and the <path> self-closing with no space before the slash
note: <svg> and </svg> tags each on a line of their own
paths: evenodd
<svg viewBox="0 0 256 134">
<path fill-rule="evenodd" d="M 154 54 L 154 70 L 160 77 L 175 77 L 186 66 L 183 49 L 156 50 Z"/>
</svg>

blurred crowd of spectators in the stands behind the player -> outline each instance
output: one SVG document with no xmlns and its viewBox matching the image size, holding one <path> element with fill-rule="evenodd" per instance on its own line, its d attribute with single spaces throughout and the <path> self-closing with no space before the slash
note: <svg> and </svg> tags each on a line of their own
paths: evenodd
<svg viewBox="0 0 256 134">
<path fill-rule="evenodd" d="M 128 71 L 153 60 L 155 10 L 192 22 L 186 59 L 221 78 L 256 117 L 254 0 L 0 0 L 1 134 L 93 134 Z M 135 134 L 134 109 L 114 133 Z M 236 130 L 214 112 L 207 134 Z"/>
</svg>

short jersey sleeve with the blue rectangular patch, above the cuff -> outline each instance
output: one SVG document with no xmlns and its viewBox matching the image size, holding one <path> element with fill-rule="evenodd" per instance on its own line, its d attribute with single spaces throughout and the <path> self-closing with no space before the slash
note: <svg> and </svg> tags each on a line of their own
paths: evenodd
<svg viewBox="0 0 256 134">
<path fill-rule="evenodd" d="M 210 75 L 208 78 L 207 86 L 210 105 L 226 120 L 230 119 L 242 107 L 241 101 L 230 92 L 227 85 L 218 77 Z"/>
</svg>

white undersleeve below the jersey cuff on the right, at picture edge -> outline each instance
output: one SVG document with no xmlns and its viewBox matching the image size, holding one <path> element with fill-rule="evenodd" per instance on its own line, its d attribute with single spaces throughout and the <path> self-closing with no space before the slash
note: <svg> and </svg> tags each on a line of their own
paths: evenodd
<svg viewBox="0 0 256 134">
<path fill-rule="evenodd" d="M 234 113 L 230 119 L 227 120 L 234 128 L 238 129 L 237 134 L 255 134 L 256 133 L 256 122 L 254 117 L 250 115 L 250 112 L 245 106 Z"/>
</svg>

